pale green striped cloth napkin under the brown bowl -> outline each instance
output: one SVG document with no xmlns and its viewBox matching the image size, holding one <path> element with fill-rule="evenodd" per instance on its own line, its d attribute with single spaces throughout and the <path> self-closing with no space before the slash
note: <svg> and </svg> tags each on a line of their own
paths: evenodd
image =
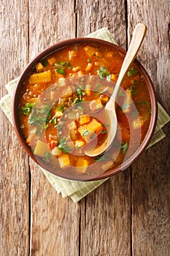
<svg viewBox="0 0 170 256">
<path fill-rule="evenodd" d="M 109 42 L 113 42 L 117 44 L 117 42 L 112 37 L 112 34 L 110 34 L 107 28 L 99 29 L 93 32 L 92 34 L 89 34 L 87 37 L 104 39 Z M 18 82 L 18 79 L 19 78 L 15 78 L 14 80 L 7 83 L 5 87 L 8 91 L 8 94 L 6 94 L 0 100 L 1 109 L 4 111 L 4 113 L 6 114 L 7 118 L 9 118 L 9 121 L 11 123 L 12 123 L 12 94 L 15 90 L 15 86 Z M 152 136 L 152 140 L 150 141 L 150 144 L 148 147 L 154 145 L 159 140 L 162 140 L 165 137 L 162 127 L 165 124 L 167 124 L 169 121 L 170 121 L 169 115 L 166 113 L 163 107 L 158 103 L 158 121 L 155 128 L 155 133 Z M 47 180 L 50 181 L 50 184 L 55 188 L 58 194 L 61 193 L 62 197 L 64 198 L 68 196 L 71 197 L 74 203 L 77 203 L 78 201 L 80 201 L 83 197 L 85 197 L 90 192 L 92 192 L 93 189 L 96 189 L 96 187 L 98 187 L 108 179 L 108 178 L 104 178 L 98 181 L 70 181 L 70 180 L 66 180 L 64 178 L 55 176 L 52 173 L 49 173 L 47 170 L 43 169 L 42 167 L 39 167 L 39 168 L 45 174 L 45 176 L 47 177 Z"/>
</svg>

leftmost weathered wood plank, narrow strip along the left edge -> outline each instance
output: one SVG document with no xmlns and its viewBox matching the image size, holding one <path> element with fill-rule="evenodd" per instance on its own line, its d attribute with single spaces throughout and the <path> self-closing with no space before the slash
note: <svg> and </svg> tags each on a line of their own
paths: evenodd
<svg viewBox="0 0 170 256">
<path fill-rule="evenodd" d="M 27 4 L 27 1 L 1 1 L 0 97 L 7 94 L 4 85 L 20 75 L 28 61 Z M 0 119 L 0 255 L 28 255 L 28 157 L 2 111 Z"/>
</svg>

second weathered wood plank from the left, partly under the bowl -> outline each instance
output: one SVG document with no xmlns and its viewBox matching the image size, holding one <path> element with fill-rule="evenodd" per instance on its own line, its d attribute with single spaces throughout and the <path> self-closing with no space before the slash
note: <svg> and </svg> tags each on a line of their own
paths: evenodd
<svg viewBox="0 0 170 256">
<path fill-rule="evenodd" d="M 31 1 L 29 13 L 31 59 L 47 46 L 75 36 L 74 1 Z M 30 167 L 31 255 L 78 255 L 80 206 L 63 200 L 33 161 Z"/>
</svg>

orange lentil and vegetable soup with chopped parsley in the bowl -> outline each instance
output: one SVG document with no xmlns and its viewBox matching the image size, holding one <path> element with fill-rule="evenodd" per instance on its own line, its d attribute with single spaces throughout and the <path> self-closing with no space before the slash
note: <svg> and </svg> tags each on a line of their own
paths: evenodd
<svg viewBox="0 0 170 256">
<path fill-rule="evenodd" d="M 77 44 L 56 50 L 31 70 L 20 91 L 18 117 L 26 142 L 39 161 L 56 172 L 98 176 L 121 165 L 139 148 L 150 125 L 150 94 L 132 64 L 116 102 L 117 134 L 102 155 L 109 121 L 104 106 L 114 90 L 124 54 L 112 48 Z"/>
</svg>

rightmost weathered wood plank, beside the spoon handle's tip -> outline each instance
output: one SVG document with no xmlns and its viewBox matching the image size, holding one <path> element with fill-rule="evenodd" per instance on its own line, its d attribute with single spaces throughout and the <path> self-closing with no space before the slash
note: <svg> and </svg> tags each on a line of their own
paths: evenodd
<svg viewBox="0 0 170 256">
<path fill-rule="evenodd" d="M 128 1 L 128 29 L 147 25 L 147 37 L 138 58 L 154 83 L 158 100 L 169 102 L 169 1 Z M 129 37 L 128 37 L 129 39 Z M 169 255 L 169 125 L 166 139 L 150 148 L 132 166 L 133 255 Z"/>
</svg>

